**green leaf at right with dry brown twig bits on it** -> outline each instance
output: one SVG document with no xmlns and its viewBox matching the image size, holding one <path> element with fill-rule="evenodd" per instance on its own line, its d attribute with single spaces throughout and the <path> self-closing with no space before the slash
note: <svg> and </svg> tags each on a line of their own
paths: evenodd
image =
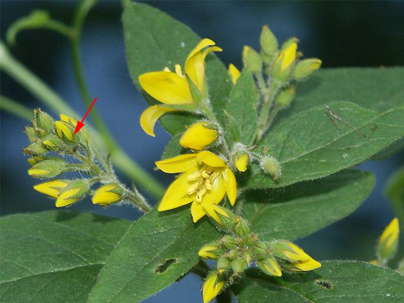
<svg viewBox="0 0 404 303">
<path fill-rule="evenodd" d="M 279 181 L 253 164 L 240 176 L 240 187 L 281 187 L 325 177 L 368 159 L 404 136 L 402 107 L 381 114 L 349 102 L 328 107 L 338 118 L 325 106 L 316 107 L 286 119 L 259 143 L 259 151 L 281 164 Z"/>
</svg>

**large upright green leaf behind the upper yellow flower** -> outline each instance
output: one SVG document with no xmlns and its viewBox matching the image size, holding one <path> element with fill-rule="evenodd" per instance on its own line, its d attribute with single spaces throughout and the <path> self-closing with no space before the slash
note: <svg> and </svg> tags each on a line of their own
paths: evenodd
<svg viewBox="0 0 404 303">
<path fill-rule="evenodd" d="M 145 4 L 125 3 L 123 27 L 128 69 L 140 91 L 140 74 L 160 71 L 166 66 L 174 70 L 175 64 L 183 66 L 189 52 L 200 41 L 189 27 Z M 208 55 L 206 61 L 211 104 L 217 115 L 222 116 L 231 81 L 226 68 L 214 54 Z M 144 91 L 142 93 L 149 105 L 158 103 Z M 174 135 L 183 132 L 185 125 L 195 122 L 196 117 L 175 112 L 164 115 L 160 121 Z"/>
</svg>

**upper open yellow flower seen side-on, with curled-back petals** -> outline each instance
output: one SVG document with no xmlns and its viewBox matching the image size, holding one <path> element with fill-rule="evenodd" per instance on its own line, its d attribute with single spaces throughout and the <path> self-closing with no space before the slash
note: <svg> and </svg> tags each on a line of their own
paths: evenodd
<svg viewBox="0 0 404 303">
<path fill-rule="evenodd" d="M 185 61 L 185 73 L 202 92 L 205 84 L 205 58 L 211 52 L 221 52 L 211 39 L 201 40 Z M 208 47 L 208 48 L 206 48 Z M 204 49 L 205 48 L 205 49 Z M 175 66 L 175 73 L 168 68 L 160 72 L 150 72 L 139 76 L 141 87 L 156 100 L 166 105 L 194 104 L 188 82 L 182 73 L 181 66 Z M 178 109 L 155 105 L 147 108 L 140 117 L 140 126 L 150 136 L 155 136 L 154 126 L 164 114 Z"/>
</svg>

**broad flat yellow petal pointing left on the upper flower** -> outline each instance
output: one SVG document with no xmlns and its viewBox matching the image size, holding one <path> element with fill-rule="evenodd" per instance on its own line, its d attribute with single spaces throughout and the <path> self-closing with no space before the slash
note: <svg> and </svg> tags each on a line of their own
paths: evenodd
<svg viewBox="0 0 404 303">
<path fill-rule="evenodd" d="M 141 87 L 164 104 L 193 104 L 188 82 L 172 72 L 151 72 L 139 76 Z"/>
</svg>

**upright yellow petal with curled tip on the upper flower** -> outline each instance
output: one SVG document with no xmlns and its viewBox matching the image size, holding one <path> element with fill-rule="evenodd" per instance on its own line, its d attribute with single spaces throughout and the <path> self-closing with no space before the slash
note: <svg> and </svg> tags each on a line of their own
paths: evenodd
<svg viewBox="0 0 404 303">
<path fill-rule="evenodd" d="M 204 88 L 205 57 L 209 54 L 209 52 L 202 53 L 201 50 L 211 45 L 215 45 L 215 42 L 211 39 L 205 38 L 201 40 L 198 45 L 192 49 L 185 61 L 185 73 L 191 78 L 192 82 L 200 91 Z M 212 49 L 212 51 L 218 51 L 219 49 L 221 50 L 221 48 L 217 47 Z"/>
</svg>

